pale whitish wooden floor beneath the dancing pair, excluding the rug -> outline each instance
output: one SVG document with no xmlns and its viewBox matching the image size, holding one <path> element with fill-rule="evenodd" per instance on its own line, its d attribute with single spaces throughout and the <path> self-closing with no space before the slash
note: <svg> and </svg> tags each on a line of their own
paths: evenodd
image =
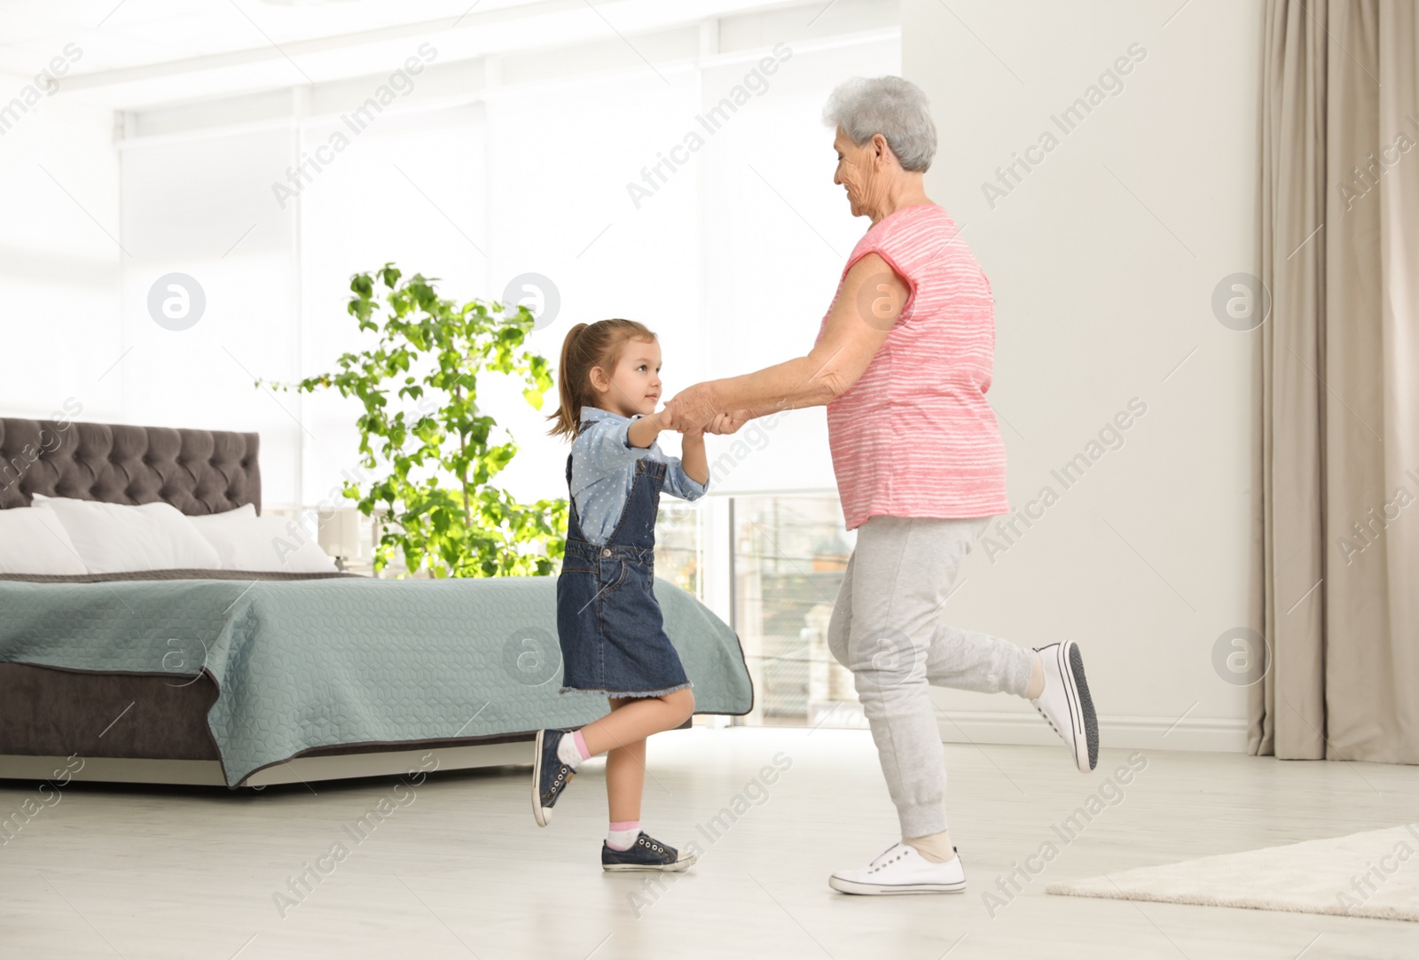
<svg viewBox="0 0 1419 960">
<path fill-rule="evenodd" d="M 600 761 L 545 830 L 532 821 L 529 769 L 517 767 L 250 794 L 71 784 L 0 848 L 0 956 L 1419 957 L 1413 923 L 1044 893 L 1069 876 L 1412 821 L 1419 769 L 1149 752 L 1121 798 L 1108 787 L 1103 811 L 1066 842 L 1054 827 L 1130 752 L 1104 750 L 1081 774 L 1063 746 L 945 749 L 969 886 L 937 896 L 826 885 L 897 839 L 864 730 L 697 727 L 651 740 L 643 822 L 704 851 L 660 886 L 600 869 Z M 763 787 L 775 757 L 786 769 Z M 40 800 L 6 781 L 0 811 L 27 797 Z M 389 815 L 356 831 L 382 803 Z M 736 821 L 712 822 L 735 805 Z M 983 895 L 999 895 L 996 878 L 1047 841 L 1059 856 L 992 916 Z M 319 864 L 329 871 L 308 874 L 297 900 L 288 878 Z"/>
</svg>

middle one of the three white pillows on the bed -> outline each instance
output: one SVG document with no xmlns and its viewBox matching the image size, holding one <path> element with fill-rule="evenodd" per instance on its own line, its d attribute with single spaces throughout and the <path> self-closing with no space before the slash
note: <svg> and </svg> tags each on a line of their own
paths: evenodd
<svg viewBox="0 0 1419 960">
<path fill-rule="evenodd" d="M 34 495 L 54 510 L 89 573 L 136 570 L 220 570 L 211 545 L 170 503 L 99 503 Z"/>
</svg>

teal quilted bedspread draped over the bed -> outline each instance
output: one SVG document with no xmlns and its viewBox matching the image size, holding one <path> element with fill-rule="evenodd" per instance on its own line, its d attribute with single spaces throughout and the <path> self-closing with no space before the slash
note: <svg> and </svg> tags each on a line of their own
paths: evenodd
<svg viewBox="0 0 1419 960">
<path fill-rule="evenodd" d="M 0 580 L 0 662 L 152 676 L 173 691 L 210 681 L 207 727 L 228 787 L 312 750 L 501 737 L 607 710 L 603 698 L 558 693 L 555 577 L 67 580 Z M 695 712 L 748 713 L 735 632 L 673 583 L 654 590 Z"/>
</svg>

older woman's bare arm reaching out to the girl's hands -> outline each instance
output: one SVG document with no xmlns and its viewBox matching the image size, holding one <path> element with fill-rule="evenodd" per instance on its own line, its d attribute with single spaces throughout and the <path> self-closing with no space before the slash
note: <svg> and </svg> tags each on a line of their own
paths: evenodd
<svg viewBox="0 0 1419 960">
<path fill-rule="evenodd" d="M 663 423 L 671 430 L 698 428 L 722 411 L 738 420 L 739 411 L 762 417 L 836 400 L 871 364 L 910 292 L 885 259 L 867 254 L 843 278 L 823 336 L 807 356 L 683 390 L 666 404 Z"/>
</svg>

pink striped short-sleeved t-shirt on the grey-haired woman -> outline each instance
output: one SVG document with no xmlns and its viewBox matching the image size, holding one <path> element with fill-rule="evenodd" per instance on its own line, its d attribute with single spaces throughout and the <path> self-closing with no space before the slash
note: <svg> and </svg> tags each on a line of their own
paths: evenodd
<svg viewBox="0 0 1419 960">
<path fill-rule="evenodd" d="M 849 530 L 870 516 L 1006 513 L 1005 442 L 985 400 L 995 298 L 956 225 L 934 203 L 878 220 L 843 267 L 878 254 L 910 294 L 863 376 L 827 404 L 827 441 Z M 864 295 L 866 296 L 866 295 Z M 823 339 L 823 315 L 817 340 Z M 816 342 L 815 342 L 816 343 Z"/>
</svg>

